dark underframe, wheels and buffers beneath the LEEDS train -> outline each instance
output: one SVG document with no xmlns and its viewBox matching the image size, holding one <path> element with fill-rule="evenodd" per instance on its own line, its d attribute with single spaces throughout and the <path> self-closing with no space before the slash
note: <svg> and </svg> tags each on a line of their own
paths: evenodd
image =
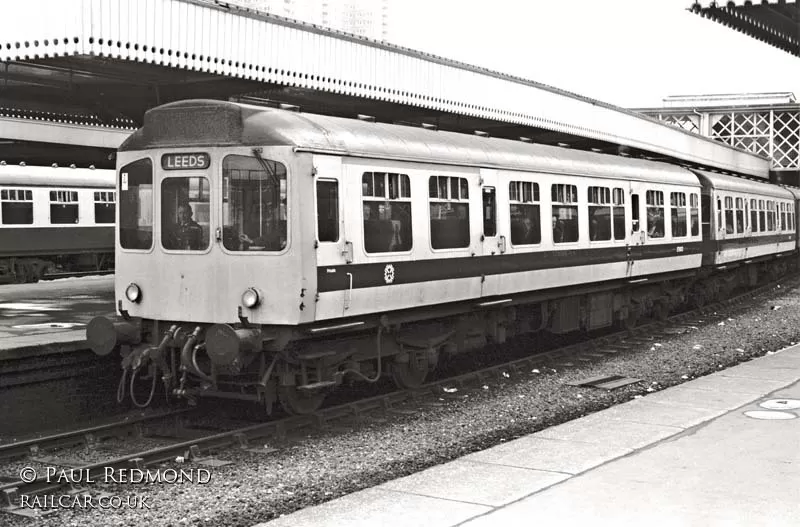
<svg viewBox="0 0 800 527">
<path fill-rule="evenodd" d="M 191 402 L 240 399 L 263 404 L 268 414 L 276 403 L 287 413 L 308 414 L 341 384 L 389 376 L 399 388 L 417 388 L 448 356 L 537 331 L 633 328 L 644 317 L 664 319 L 680 305 L 702 307 L 739 286 L 775 279 L 794 269 L 795 260 L 481 299 L 308 329 L 257 327 L 246 320 L 232 326 L 95 319 L 87 339 L 101 355 L 121 349 L 120 402 L 127 393 L 136 406 L 149 405 L 160 379 L 168 395 Z"/>
</svg>

